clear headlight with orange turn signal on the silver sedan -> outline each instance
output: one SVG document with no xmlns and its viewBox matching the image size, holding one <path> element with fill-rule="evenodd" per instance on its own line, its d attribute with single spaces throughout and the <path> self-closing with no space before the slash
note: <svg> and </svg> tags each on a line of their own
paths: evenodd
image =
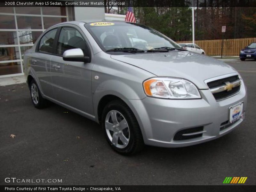
<svg viewBox="0 0 256 192">
<path fill-rule="evenodd" d="M 196 85 L 180 78 L 156 77 L 143 82 L 148 96 L 164 99 L 200 99 Z"/>
</svg>

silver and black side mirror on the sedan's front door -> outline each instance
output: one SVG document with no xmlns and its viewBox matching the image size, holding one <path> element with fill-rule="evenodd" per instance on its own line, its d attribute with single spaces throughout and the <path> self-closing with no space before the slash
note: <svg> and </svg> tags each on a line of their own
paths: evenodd
<svg viewBox="0 0 256 192">
<path fill-rule="evenodd" d="M 62 55 L 64 61 L 80 61 L 85 63 L 90 63 L 91 58 L 84 56 L 84 52 L 80 48 L 69 49 L 65 51 Z"/>
</svg>

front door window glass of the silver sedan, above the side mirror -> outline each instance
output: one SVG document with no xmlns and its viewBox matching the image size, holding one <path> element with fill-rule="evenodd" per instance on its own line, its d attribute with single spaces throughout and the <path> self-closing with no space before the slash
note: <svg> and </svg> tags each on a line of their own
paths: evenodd
<svg viewBox="0 0 256 192">
<path fill-rule="evenodd" d="M 58 40 L 57 54 L 62 55 L 68 49 L 80 48 L 85 53 L 86 43 L 82 35 L 75 29 L 63 27 Z"/>
</svg>

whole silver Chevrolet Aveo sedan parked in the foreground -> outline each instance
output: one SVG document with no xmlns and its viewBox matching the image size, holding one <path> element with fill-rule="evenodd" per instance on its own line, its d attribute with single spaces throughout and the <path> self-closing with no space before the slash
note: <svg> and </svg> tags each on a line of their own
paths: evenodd
<svg viewBox="0 0 256 192">
<path fill-rule="evenodd" d="M 234 68 L 138 23 L 54 25 L 24 64 L 36 108 L 50 100 L 100 123 L 121 154 L 203 143 L 244 119 L 246 88 Z"/>
</svg>

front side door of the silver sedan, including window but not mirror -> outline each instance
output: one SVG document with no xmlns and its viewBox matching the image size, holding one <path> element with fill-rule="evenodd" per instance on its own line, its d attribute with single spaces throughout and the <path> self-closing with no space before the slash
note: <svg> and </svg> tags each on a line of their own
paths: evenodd
<svg viewBox="0 0 256 192">
<path fill-rule="evenodd" d="M 91 63 L 64 61 L 63 52 L 80 48 L 84 56 L 91 57 L 86 37 L 78 27 L 61 27 L 55 55 L 51 59 L 51 75 L 54 99 L 63 104 L 93 115 Z"/>
</svg>

